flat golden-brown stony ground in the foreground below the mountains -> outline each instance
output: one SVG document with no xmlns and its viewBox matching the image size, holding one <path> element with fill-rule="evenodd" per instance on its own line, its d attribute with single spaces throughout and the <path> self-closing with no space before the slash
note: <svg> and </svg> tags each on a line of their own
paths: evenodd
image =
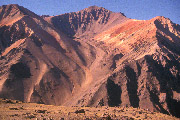
<svg viewBox="0 0 180 120">
<path fill-rule="evenodd" d="M 1 120 L 178 120 L 178 118 L 136 108 L 64 107 L 0 99 Z"/>
</svg>

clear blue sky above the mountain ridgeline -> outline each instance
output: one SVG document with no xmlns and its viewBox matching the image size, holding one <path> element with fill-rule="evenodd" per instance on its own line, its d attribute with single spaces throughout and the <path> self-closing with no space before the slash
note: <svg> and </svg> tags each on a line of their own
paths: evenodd
<svg viewBox="0 0 180 120">
<path fill-rule="evenodd" d="M 38 15 L 50 16 L 96 5 L 122 12 L 132 19 L 149 20 L 164 16 L 180 24 L 180 0 L 0 0 L 0 6 L 7 4 L 19 4 Z"/>
</svg>

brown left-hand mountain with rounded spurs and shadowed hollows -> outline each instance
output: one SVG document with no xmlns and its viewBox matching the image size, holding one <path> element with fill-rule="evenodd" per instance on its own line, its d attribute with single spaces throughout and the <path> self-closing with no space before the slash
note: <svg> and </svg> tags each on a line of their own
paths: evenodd
<svg viewBox="0 0 180 120">
<path fill-rule="evenodd" d="M 3 9 L 19 11 L 14 16 L 20 18 L 1 26 L 0 96 L 62 104 L 84 84 L 84 68 L 95 55 L 93 47 L 73 41 L 21 6 L 7 5 Z M 4 14 L 11 17 L 1 12 Z"/>
</svg>

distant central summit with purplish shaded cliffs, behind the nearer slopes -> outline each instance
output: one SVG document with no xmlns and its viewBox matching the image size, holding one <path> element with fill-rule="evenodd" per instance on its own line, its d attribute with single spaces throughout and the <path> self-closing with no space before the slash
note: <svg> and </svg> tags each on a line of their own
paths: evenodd
<svg viewBox="0 0 180 120">
<path fill-rule="evenodd" d="M 90 6 L 78 12 L 45 17 L 44 19 L 69 36 L 83 34 L 92 37 L 102 29 L 108 29 L 128 18 L 121 13 L 114 13 L 103 7 Z"/>
</svg>

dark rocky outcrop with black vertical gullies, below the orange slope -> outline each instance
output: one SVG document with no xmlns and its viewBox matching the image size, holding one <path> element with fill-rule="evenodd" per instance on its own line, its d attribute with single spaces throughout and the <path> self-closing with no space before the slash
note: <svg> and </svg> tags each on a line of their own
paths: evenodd
<svg viewBox="0 0 180 120">
<path fill-rule="evenodd" d="M 177 116 L 179 103 L 173 93 L 178 92 L 179 89 L 179 73 L 173 76 L 169 67 L 168 69 L 163 67 L 153 58 L 154 55 L 147 55 L 126 64 L 124 68 L 109 77 L 122 90 L 119 95 L 122 101 L 120 106 L 140 107 Z M 166 61 L 165 66 L 169 63 L 175 63 L 175 61 Z"/>
</svg>

